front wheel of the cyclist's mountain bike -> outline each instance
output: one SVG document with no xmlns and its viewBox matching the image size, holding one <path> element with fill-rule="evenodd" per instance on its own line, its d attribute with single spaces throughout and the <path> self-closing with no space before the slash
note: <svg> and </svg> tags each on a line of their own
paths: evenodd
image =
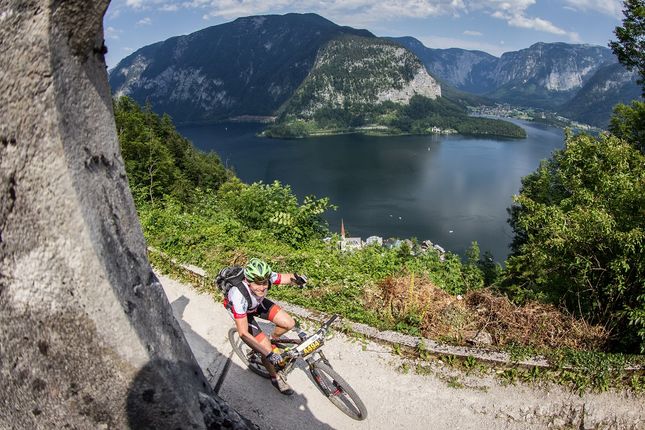
<svg viewBox="0 0 645 430">
<path fill-rule="evenodd" d="M 313 364 L 311 374 L 323 394 L 345 415 L 358 421 L 367 418 L 367 409 L 358 394 L 334 369 L 319 361 Z"/>
</svg>

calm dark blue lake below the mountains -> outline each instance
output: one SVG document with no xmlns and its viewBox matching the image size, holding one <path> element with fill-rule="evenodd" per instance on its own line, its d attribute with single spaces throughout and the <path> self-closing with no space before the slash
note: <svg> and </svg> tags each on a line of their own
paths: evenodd
<svg viewBox="0 0 645 430">
<path fill-rule="evenodd" d="M 216 151 L 246 181 L 290 184 L 300 198 L 327 196 L 352 236 L 430 239 L 459 254 L 476 240 L 496 260 L 508 254 L 507 223 L 520 179 L 564 145 L 562 130 L 515 121 L 528 138 L 359 135 L 276 140 L 261 125 L 182 127 L 195 146 Z"/>
</svg>

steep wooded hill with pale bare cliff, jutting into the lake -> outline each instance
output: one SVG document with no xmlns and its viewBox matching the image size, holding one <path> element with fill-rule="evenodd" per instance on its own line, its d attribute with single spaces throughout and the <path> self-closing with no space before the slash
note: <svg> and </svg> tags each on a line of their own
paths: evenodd
<svg viewBox="0 0 645 430">
<path fill-rule="evenodd" d="M 456 90 L 442 97 L 423 62 L 398 43 L 343 36 L 321 48 L 309 76 L 280 109 L 269 137 L 461 133 L 523 138 L 509 122 L 473 118 Z"/>
</svg>

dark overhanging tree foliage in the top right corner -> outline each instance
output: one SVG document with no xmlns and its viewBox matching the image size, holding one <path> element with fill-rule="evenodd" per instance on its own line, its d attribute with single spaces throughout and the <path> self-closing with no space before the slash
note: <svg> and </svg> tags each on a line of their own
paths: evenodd
<svg viewBox="0 0 645 430">
<path fill-rule="evenodd" d="M 609 47 L 621 64 L 638 71 L 638 83 L 645 96 L 645 1 L 625 0 L 623 6 L 623 26 L 616 27 L 614 34 L 618 40 L 610 42 Z"/>
</svg>

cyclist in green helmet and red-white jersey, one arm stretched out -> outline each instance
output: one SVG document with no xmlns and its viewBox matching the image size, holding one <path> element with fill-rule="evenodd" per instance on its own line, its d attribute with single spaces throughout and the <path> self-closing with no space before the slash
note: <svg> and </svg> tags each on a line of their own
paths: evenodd
<svg viewBox="0 0 645 430">
<path fill-rule="evenodd" d="M 244 267 L 244 279 L 241 285 L 231 288 L 224 298 L 224 307 L 233 317 L 240 338 L 249 347 L 262 354 L 262 364 L 271 376 L 271 384 L 285 395 L 293 394 L 293 390 L 282 375 L 276 371 L 275 366 L 280 363 L 281 356 L 264 334 L 255 317 L 269 320 L 275 324 L 272 338 L 279 338 L 289 330 L 294 330 L 301 339 L 306 338 L 307 335 L 300 331 L 291 315 L 265 297 L 271 285 L 296 284 L 304 286 L 306 282 L 307 277 L 304 275 L 274 273 L 266 262 L 252 258 Z M 248 294 L 244 293 L 243 288 Z"/>
</svg>

